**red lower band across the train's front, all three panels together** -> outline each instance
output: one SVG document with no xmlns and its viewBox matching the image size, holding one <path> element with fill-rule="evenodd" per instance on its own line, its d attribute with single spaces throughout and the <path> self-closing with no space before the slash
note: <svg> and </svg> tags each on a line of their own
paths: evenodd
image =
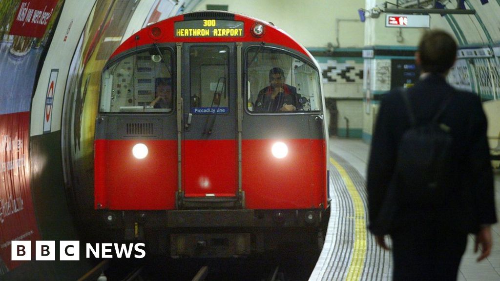
<svg viewBox="0 0 500 281">
<path fill-rule="evenodd" d="M 149 148 L 133 157 L 134 144 Z M 249 209 L 317 208 L 326 188 L 323 139 L 287 139 L 288 155 L 271 153 L 272 139 L 242 141 L 242 188 Z M 237 158 L 234 140 L 183 142 L 183 189 L 186 197 L 234 196 Z M 175 140 L 95 141 L 95 207 L 173 209 L 177 190 Z"/>
</svg>

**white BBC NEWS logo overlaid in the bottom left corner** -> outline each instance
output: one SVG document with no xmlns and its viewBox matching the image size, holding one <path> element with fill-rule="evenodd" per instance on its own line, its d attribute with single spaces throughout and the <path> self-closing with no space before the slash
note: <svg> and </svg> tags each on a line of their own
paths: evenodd
<svg viewBox="0 0 500 281">
<path fill-rule="evenodd" d="M 11 246 L 11 260 L 31 260 L 31 241 L 12 241 Z M 86 243 L 85 257 L 143 258 L 144 247 L 144 243 Z M 35 260 L 55 260 L 55 241 L 35 241 L 34 251 Z M 80 242 L 59 241 L 59 260 L 80 260 Z"/>
</svg>

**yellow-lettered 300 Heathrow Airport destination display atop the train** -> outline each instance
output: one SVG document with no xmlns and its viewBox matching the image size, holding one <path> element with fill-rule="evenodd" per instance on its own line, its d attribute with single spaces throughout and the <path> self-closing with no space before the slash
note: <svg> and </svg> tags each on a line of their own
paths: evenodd
<svg viewBox="0 0 500 281">
<path fill-rule="evenodd" d="M 243 21 L 200 19 L 176 21 L 175 37 L 243 37 Z"/>
</svg>

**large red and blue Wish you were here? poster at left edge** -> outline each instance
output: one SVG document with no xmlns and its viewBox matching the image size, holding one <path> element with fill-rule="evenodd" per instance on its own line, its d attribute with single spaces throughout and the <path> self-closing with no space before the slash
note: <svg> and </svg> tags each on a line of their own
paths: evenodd
<svg viewBox="0 0 500 281">
<path fill-rule="evenodd" d="M 11 241 L 40 238 L 29 166 L 29 108 L 36 69 L 62 0 L 0 1 L 0 275 Z"/>
</svg>

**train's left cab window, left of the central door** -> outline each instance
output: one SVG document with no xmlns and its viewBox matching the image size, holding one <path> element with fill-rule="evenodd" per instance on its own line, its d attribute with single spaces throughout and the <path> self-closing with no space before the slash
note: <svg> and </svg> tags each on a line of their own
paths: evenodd
<svg viewBox="0 0 500 281">
<path fill-rule="evenodd" d="M 156 49 L 131 54 L 102 73 L 101 112 L 170 112 L 172 53 Z"/>
</svg>

